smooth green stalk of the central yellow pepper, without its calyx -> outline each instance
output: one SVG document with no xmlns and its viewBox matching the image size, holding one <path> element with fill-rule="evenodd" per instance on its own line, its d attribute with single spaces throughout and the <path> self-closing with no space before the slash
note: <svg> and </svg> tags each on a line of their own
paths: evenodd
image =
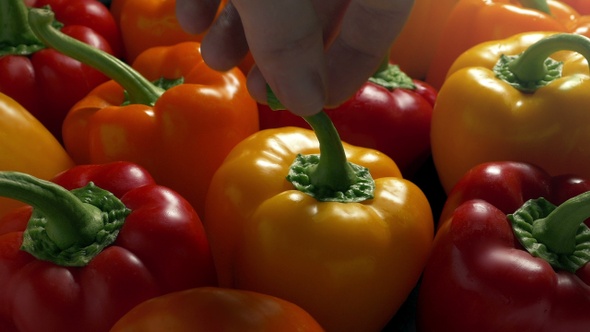
<svg viewBox="0 0 590 332">
<path fill-rule="evenodd" d="M 303 117 L 315 132 L 320 145 L 320 160 L 310 176 L 317 188 L 346 191 L 356 182 L 356 175 L 346 159 L 340 135 L 330 117 L 320 111 Z"/>
</svg>

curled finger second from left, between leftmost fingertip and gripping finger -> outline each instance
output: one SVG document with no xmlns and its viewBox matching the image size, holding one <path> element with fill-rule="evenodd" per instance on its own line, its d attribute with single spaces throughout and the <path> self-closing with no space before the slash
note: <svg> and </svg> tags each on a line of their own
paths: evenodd
<svg viewBox="0 0 590 332">
<path fill-rule="evenodd" d="M 220 71 L 237 66 L 248 53 L 242 21 L 231 2 L 223 8 L 203 38 L 201 53 L 211 68 Z"/>
</svg>

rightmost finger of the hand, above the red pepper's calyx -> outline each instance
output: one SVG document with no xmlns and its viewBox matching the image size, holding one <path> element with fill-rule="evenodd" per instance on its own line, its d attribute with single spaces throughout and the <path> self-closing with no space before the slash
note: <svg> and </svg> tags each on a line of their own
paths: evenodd
<svg viewBox="0 0 590 332">
<path fill-rule="evenodd" d="M 327 51 L 327 105 L 350 98 L 375 72 L 400 33 L 413 0 L 353 0 Z M 417 41 L 419 42 L 419 41 Z"/>
</svg>

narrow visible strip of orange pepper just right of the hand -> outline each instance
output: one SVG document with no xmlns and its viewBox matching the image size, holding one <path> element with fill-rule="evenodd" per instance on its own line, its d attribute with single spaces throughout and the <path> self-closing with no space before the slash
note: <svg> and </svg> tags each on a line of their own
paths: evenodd
<svg viewBox="0 0 590 332">
<path fill-rule="evenodd" d="M 426 78 L 441 27 L 459 0 L 415 0 L 404 28 L 391 45 L 389 59 L 410 77 Z"/>
</svg>

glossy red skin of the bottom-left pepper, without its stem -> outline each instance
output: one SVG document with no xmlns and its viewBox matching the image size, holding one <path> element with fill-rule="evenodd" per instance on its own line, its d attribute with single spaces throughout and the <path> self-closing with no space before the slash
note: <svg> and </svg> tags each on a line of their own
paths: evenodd
<svg viewBox="0 0 590 332">
<path fill-rule="evenodd" d="M 53 181 L 67 190 L 92 181 L 130 213 L 116 240 L 85 266 L 61 266 L 19 249 L 30 206 L 1 219 L 1 331 L 106 332 L 149 298 L 216 285 L 196 212 L 143 168 L 126 162 L 76 166 Z"/>
</svg>

